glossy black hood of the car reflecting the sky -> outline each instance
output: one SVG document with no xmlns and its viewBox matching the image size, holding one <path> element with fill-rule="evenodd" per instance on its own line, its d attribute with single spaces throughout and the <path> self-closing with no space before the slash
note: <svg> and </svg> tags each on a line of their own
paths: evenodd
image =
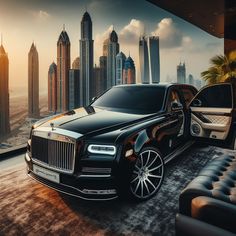
<svg viewBox="0 0 236 236">
<path fill-rule="evenodd" d="M 139 122 L 147 116 L 150 115 L 109 111 L 90 106 L 54 116 L 46 121 L 39 121 L 36 127 L 50 127 L 53 123 L 55 128 L 85 135 L 94 132 L 109 132 Z"/>
</svg>

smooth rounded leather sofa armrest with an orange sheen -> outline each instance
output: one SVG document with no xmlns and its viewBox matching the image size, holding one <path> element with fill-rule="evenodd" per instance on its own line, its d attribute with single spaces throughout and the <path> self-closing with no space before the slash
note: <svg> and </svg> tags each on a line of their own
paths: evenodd
<svg viewBox="0 0 236 236">
<path fill-rule="evenodd" d="M 191 203 L 193 218 L 236 233 L 236 205 L 210 197 L 196 197 Z"/>
</svg>

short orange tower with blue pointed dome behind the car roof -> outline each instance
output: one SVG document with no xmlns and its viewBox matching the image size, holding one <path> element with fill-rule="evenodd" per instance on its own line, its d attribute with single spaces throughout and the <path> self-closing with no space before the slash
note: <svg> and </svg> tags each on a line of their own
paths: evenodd
<svg viewBox="0 0 236 236">
<path fill-rule="evenodd" d="M 129 56 L 125 60 L 125 65 L 123 70 L 123 84 L 135 84 L 135 83 L 136 83 L 135 65 L 133 59 Z"/>
</svg>

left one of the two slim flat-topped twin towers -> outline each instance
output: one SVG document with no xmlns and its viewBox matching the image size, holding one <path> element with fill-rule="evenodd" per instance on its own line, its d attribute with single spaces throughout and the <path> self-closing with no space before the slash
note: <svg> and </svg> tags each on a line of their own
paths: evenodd
<svg viewBox="0 0 236 236">
<path fill-rule="evenodd" d="M 143 84 L 149 84 L 150 76 L 149 76 L 148 44 L 145 37 L 141 37 L 139 39 L 139 64 L 141 72 L 141 82 Z"/>
</svg>

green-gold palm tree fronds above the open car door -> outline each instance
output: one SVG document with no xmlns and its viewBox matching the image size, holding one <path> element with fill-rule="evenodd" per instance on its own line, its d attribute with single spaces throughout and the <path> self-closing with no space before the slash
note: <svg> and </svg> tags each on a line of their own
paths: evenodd
<svg viewBox="0 0 236 236">
<path fill-rule="evenodd" d="M 216 55 L 210 59 L 211 67 L 201 73 L 208 84 L 236 81 L 236 50 L 229 55 Z"/>
</svg>

